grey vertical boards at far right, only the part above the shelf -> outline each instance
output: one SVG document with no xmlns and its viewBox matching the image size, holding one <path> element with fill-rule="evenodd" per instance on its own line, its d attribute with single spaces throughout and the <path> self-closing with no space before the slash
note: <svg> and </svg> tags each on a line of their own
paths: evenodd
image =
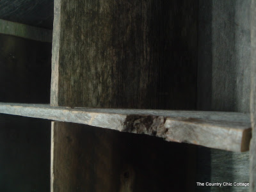
<svg viewBox="0 0 256 192">
<path fill-rule="evenodd" d="M 198 110 L 250 111 L 250 0 L 200 0 Z"/>
</svg>

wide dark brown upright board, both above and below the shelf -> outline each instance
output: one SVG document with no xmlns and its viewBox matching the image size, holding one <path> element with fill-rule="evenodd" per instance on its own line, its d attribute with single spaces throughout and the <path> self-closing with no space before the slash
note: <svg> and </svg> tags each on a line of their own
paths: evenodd
<svg viewBox="0 0 256 192">
<path fill-rule="evenodd" d="M 51 105 L 195 109 L 197 7 L 192 0 L 55 0 Z M 187 150 L 54 122 L 51 191 L 191 191 Z"/>
</svg>

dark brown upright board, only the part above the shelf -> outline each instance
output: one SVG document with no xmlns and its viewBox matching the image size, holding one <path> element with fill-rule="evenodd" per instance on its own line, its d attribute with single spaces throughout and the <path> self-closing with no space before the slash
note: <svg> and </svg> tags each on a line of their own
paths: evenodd
<svg viewBox="0 0 256 192">
<path fill-rule="evenodd" d="M 197 1 L 63 0 L 55 9 L 52 105 L 195 109 Z"/>
</svg>

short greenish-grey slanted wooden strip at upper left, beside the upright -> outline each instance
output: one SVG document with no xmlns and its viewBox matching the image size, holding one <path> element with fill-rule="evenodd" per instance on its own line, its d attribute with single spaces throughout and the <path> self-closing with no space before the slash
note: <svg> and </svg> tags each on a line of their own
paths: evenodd
<svg viewBox="0 0 256 192">
<path fill-rule="evenodd" d="M 52 30 L 0 19 L 0 33 L 40 42 L 52 42 Z"/>
</svg>

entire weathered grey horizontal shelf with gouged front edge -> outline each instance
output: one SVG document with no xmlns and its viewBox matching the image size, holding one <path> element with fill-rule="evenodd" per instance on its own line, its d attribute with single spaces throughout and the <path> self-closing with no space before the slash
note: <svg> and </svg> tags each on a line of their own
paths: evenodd
<svg viewBox="0 0 256 192">
<path fill-rule="evenodd" d="M 70 108 L 47 104 L 0 103 L 0 113 L 149 134 L 166 141 L 239 152 L 248 150 L 252 137 L 250 115 L 236 112 Z"/>
</svg>

